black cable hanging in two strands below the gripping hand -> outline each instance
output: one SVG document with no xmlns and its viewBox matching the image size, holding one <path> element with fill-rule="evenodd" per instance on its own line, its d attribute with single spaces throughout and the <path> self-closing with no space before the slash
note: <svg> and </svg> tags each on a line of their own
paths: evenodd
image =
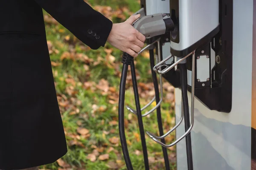
<svg viewBox="0 0 256 170">
<path fill-rule="evenodd" d="M 141 138 L 141 143 L 143 148 L 144 165 L 145 165 L 145 170 L 149 170 L 148 152 L 147 152 L 147 146 L 146 146 L 146 140 L 145 140 L 143 120 L 142 120 L 142 115 L 140 110 L 140 99 L 139 99 L 139 93 L 137 88 L 134 58 L 131 57 L 131 55 L 124 53 L 122 56 L 122 63 L 123 63 L 123 68 L 122 68 L 122 75 L 121 75 L 120 88 L 119 88 L 118 114 L 119 114 L 119 136 L 120 136 L 120 142 L 122 145 L 122 152 L 124 155 L 125 164 L 128 170 L 133 170 L 131 159 L 128 152 L 128 147 L 127 147 L 127 142 L 125 137 L 125 125 L 124 125 L 125 83 L 126 83 L 126 77 L 128 72 L 128 65 L 131 65 L 131 77 L 132 77 L 133 88 L 134 88 L 134 97 L 136 102 L 137 118 L 138 118 L 138 124 L 140 129 L 140 138 Z"/>
</svg>

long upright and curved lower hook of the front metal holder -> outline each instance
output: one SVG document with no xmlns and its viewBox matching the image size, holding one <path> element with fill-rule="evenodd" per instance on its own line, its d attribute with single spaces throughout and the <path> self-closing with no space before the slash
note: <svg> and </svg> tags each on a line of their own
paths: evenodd
<svg viewBox="0 0 256 170">
<path fill-rule="evenodd" d="M 191 85 L 191 123 L 190 123 L 189 129 L 188 129 L 182 136 L 180 136 L 177 140 L 175 140 L 175 142 L 173 142 L 173 143 L 171 143 L 171 144 L 164 144 L 164 143 L 158 141 L 157 138 L 155 138 L 152 133 L 150 133 L 150 132 L 148 132 L 148 131 L 146 132 L 147 135 L 148 135 L 151 139 L 153 139 L 155 142 L 157 142 L 158 144 L 160 144 L 160 145 L 163 146 L 163 147 L 172 147 L 172 146 L 174 146 L 175 144 L 177 144 L 177 142 L 180 142 L 181 139 L 183 139 L 184 137 L 186 137 L 186 136 L 190 133 L 190 131 L 192 130 L 192 127 L 194 126 L 195 51 L 191 52 L 189 55 L 191 55 L 191 54 L 193 54 L 193 55 L 192 55 L 192 85 Z M 189 55 L 188 55 L 188 56 L 189 56 Z M 186 57 L 188 57 L 188 56 L 186 56 Z M 186 58 L 186 57 L 184 57 L 184 58 Z M 178 61 L 179 61 L 179 60 L 178 60 Z M 181 61 L 180 61 L 180 62 L 181 62 Z M 174 64 L 175 64 L 175 63 L 174 63 Z M 173 64 L 173 65 L 174 65 L 174 64 Z M 170 66 L 170 67 L 171 67 L 171 66 Z"/>
</svg>

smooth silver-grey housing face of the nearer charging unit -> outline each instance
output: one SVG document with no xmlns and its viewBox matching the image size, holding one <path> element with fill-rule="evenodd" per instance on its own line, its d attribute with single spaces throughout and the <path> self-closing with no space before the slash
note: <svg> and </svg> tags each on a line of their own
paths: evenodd
<svg viewBox="0 0 256 170">
<path fill-rule="evenodd" d="M 218 3 L 219 0 L 179 0 L 180 41 L 171 41 L 172 49 L 182 51 L 217 28 Z"/>
</svg>

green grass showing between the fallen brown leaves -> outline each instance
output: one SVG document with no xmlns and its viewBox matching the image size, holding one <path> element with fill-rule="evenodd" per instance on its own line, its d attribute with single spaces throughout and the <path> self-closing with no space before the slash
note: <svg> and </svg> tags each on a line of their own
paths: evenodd
<svg viewBox="0 0 256 170">
<path fill-rule="evenodd" d="M 111 6 L 112 10 L 119 10 L 119 8 L 127 7 L 131 12 L 135 12 L 140 8 L 137 0 L 88 0 L 92 6 Z M 44 13 L 47 15 L 47 13 Z M 125 15 L 128 17 L 128 14 Z M 113 17 L 114 22 L 118 22 L 121 19 Z M 123 20 L 121 20 L 123 21 Z M 50 54 L 51 61 L 55 63 L 60 63 L 60 65 L 53 65 L 52 71 L 54 74 L 54 79 L 56 83 L 56 91 L 58 95 L 61 115 L 63 119 L 63 124 L 67 136 L 67 143 L 69 144 L 72 140 L 80 142 L 83 146 L 79 144 L 68 145 L 68 153 L 61 158 L 70 165 L 70 169 L 87 169 L 87 170 L 108 170 L 108 163 L 110 161 L 119 164 L 120 170 L 125 170 L 125 162 L 122 157 L 122 149 L 120 142 L 117 144 L 112 144 L 109 139 L 113 136 L 119 138 L 118 125 L 110 125 L 110 122 L 115 120 L 118 121 L 118 105 L 109 102 L 109 96 L 113 95 L 118 100 L 119 91 L 119 80 L 117 76 L 118 72 L 121 71 L 121 54 L 122 52 L 116 48 L 113 48 L 110 44 L 106 44 L 105 48 L 113 48 L 111 55 L 116 57 L 115 62 L 110 63 L 114 67 L 109 66 L 106 60 L 107 53 L 105 48 L 101 47 L 98 50 L 87 50 L 87 45 L 82 44 L 76 37 L 73 36 L 67 29 L 65 29 L 60 24 L 49 24 L 46 23 L 47 40 L 52 43 L 52 54 Z M 61 56 L 64 53 L 70 52 L 74 54 L 86 55 L 88 58 L 92 59 L 90 64 L 81 61 L 78 58 L 71 59 L 65 58 L 61 60 Z M 97 61 L 98 57 L 102 58 L 98 65 L 93 65 Z M 139 56 L 136 59 L 137 73 L 140 75 L 138 82 L 149 83 L 152 82 L 150 73 L 150 64 L 147 57 Z M 87 66 L 85 66 L 87 65 Z M 117 70 L 116 70 L 117 66 Z M 89 68 L 89 70 L 85 68 Z M 73 79 L 74 84 L 67 83 L 67 79 Z M 116 89 L 116 92 L 108 92 L 108 94 L 102 94 L 102 91 L 95 88 L 100 81 L 100 79 L 105 79 L 109 83 L 109 87 Z M 95 83 L 92 85 L 92 89 L 85 89 L 84 82 Z M 135 108 L 134 94 L 131 86 L 131 81 L 126 85 L 127 91 L 125 95 L 125 105 L 131 105 Z M 72 94 L 72 92 L 76 92 Z M 151 98 L 140 98 L 141 106 L 144 106 L 149 102 Z M 64 105 L 63 103 L 67 103 Z M 104 111 L 93 111 L 93 107 L 102 107 Z M 153 108 L 151 106 L 148 109 Z M 169 116 L 169 111 L 171 111 L 171 117 Z M 143 112 L 145 113 L 145 112 Z M 164 122 L 165 132 L 168 128 L 172 127 L 169 119 L 174 116 L 173 108 L 169 102 L 165 102 L 162 105 L 162 120 Z M 143 170 L 143 155 L 137 156 L 135 150 L 142 151 L 140 139 L 137 141 L 137 134 L 140 134 L 138 129 L 137 117 L 132 113 L 129 113 L 125 109 L 125 119 L 128 120 L 128 127 L 126 128 L 126 138 L 128 140 L 128 150 L 131 156 L 131 161 L 133 163 L 135 170 Z M 147 131 L 157 133 L 157 116 L 156 112 L 152 113 L 150 117 L 143 118 L 144 128 Z M 90 130 L 90 137 L 86 139 L 74 136 L 79 136 L 77 129 L 79 127 L 84 127 Z M 109 134 L 105 134 L 108 132 Z M 173 134 L 172 136 L 175 136 Z M 172 142 L 173 137 L 169 136 L 169 141 Z M 161 154 L 162 148 L 159 144 L 156 144 L 148 136 L 146 136 L 146 142 L 148 147 L 148 156 L 154 158 L 163 158 Z M 109 159 L 105 161 L 99 160 L 98 156 L 95 162 L 87 159 L 88 154 L 93 153 L 95 148 L 104 147 L 102 153 L 108 153 L 108 149 L 113 147 L 116 152 L 111 151 L 109 154 Z M 174 154 L 175 150 L 168 150 L 169 154 Z M 172 170 L 175 170 L 175 160 L 170 159 Z M 150 164 L 151 169 L 161 169 L 164 167 L 164 163 L 161 161 L 155 161 L 155 163 Z M 55 162 L 53 164 L 48 164 L 41 166 L 42 169 L 56 170 L 60 165 Z"/>
</svg>

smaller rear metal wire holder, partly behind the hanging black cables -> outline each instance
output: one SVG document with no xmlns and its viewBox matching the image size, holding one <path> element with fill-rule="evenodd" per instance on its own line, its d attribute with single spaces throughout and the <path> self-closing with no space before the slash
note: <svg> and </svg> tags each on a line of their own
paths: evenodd
<svg viewBox="0 0 256 170">
<path fill-rule="evenodd" d="M 154 43 L 157 42 L 157 46 L 158 46 L 158 50 L 157 50 L 157 57 L 156 57 L 156 63 L 159 63 L 160 61 L 160 56 L 161 56 L 161 51 L 160 51 L 160 38 L 158 38 L 157 40 L 155 40 L 154 42 L 152 42 L 151 44 L 148 44 L 147 46 L 145 46 L 145 48 L 143 48 L 138 54 L 142 53 L 145 49 L 147 49 L 148 47 L 150 47 L 151 45 L 154 45 Z M 161 70 L 161 68 L 160 68 Z M 152 108 L 150 111 L 148 111 L 147 113 L 143 114 L 142 116 L 145 117 L 147 116 L 148 114 L 152 113 L 153 111 L 155 111 L 159 106 L 160 104 L 162 103 L 163 101 L 163 78 L 162 78 L 162 75 L 160 74 L 160 94 L 161 94 L 161 98 L 160 98 L 160 101 L 157 103 L 157 105 Z M 156 97 L 154 96 L 154 98 L 147 104 L 145 105 L 143 108 L 141 108 L 141 111 L 145 110 L 145 108 L 147 108 L 149 105 L 151 105 L 154 100 L 156 99 Z M 133 108 L 131 108 L 130 106 L 126 106 L 126 108 L 128 109 L 128 111 L 130 111 L 131 113 L 134 113 L 134 114 L 137 114 L 137 111 Z"/>
</svg>

